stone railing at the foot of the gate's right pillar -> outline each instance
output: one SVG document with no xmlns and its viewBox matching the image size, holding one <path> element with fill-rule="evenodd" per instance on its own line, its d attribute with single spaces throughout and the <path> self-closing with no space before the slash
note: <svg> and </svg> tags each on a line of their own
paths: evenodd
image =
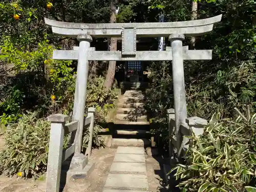
<svg viewBox="0 0 256 192">
<path fill-rule="evenodd" d="M 180 158 L 185 154 L 191 142 L 187 137 L 191 136 L 192 132 L 196 136 L 200 136 L 204 133 L 204 126 L 207 125 L 207 120 L 200 117 L 186 118 L 186 123 L 181 124 L 180 131 L 175 131 L 175 110 L 167 110 L 167 122 L 169 127 L 169 156 L 172 158 L 174 154 L 177 158 Z"/>
</svg>

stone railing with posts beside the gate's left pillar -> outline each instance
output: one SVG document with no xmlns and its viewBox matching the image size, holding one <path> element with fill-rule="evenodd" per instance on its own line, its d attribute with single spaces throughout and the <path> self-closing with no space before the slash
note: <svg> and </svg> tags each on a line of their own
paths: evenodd
<svg viewBox="0 0 256 192">
<path fill-rule="evenodd" d="M 93 137 L 93 127 L 94 127 L 94 108 L 88 109 L 88 116 L 84 118 L 84 126 L 90 124 L 90 139 L 86 153 L 84 154 L 89 158 L 92 152 L 92 137 Z M 48 164 L 47 164 L 47 178 L 46 178 L 46 191 L 56 192 L 59 191 L 60 183 L 60 172 L 61 164 L 63 161 L 67 160 L 72 154 L 75 153 L 76 141 L 74 141 L 70 146 L 63 150 L 64 136 L 78 129 L 78 121 L 72 121 L 66 124 L 69 120 L 69 116 L 63 114 L 55 114 L 48 117 L 48 121 L 51 121 L 51 131 L 50 131 L 50 144 L 48 152 Z M 78 137 L 82 137 L 82 133 L 78 133 Z M 80 148 L 81 151 L 81 148 Z M 81 155 L 81 154 L 79 154 Z M 87 162 L 86 162 L 87 163 Z M 77 165 L 79 166 L 79 165 Z M 82 167 L 78 167 L 82 169 Z"/>
</svg>

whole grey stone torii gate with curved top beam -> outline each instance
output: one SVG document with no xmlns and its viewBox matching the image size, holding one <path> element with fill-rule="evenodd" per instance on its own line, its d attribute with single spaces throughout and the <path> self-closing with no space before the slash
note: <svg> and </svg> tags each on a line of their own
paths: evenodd
<svg viewBox="0 0 256 192">
<path fill-rule="evenodd" d="M 215 23 L 220 22 L 222 15 L 201 20 L 190 20 L 172 23 L 123 23 L 123 24 L 78 24 L 57 22 L 45 18 L 45 22 L 52 28 L 53 33 L 60 36 L 75 37 L 79 47 L 74 50 L 55 50 L 53 59 L 78 60 L 77 79 L 73 109 L 73 120 L 79 122 L 77 132 L 82 132 L 84 120 L 84 105 L 86 103 L 88 61 L 116 60 L 116 61 L 167 61 L 172 60 L 174 108 L 176 119 L 176 133 L 180 124 L 187 118 L 186 96 L 184 84 L 183 60 L 210 60 L 211 50 L 188 50 L 182 47 L 185 36 L 199 36 L 212 30 Z M 122 37 L 122 51 L 95 51 L 90 47 L 93 37 Z M 136 51 L 137 37 L 168 37 L 171 47 L 166 51 Z M 79 156 L 82 138 L 75 138 L 74 161 L 83 163 Z M 77 158 L 76 158 L 77 157 Z"/>
</svg>

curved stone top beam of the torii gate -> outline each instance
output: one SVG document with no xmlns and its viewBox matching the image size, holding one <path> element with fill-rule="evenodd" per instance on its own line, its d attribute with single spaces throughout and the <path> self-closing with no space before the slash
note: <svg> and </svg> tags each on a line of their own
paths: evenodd
<svg viewBox="0 0 256 192">
<path fill-rule="evenodd" d="M 185 36 L 199 36 L 212 30 L 215 23 L 220 22 L 222 15 L 185 22 L 166 23 L 123 23 L 123 24 L 79 24 L 58 22 L 45 18 L 53 33 L 66 37 L 77 37 L 79 34 L 89 34 L 92 37 L 121 37 L 125 28 L 136 29 L 137 37 L 168 37 L 172 33 Z"/>
</svg>

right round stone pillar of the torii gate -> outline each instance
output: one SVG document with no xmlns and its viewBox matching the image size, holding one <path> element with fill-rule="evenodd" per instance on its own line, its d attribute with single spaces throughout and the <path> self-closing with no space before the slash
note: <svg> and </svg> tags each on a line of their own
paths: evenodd
<svg viewBox="0 0 256 192">
<path fill-rule="evenodd" d="M 183 48 L 182 40 L 184 34 L 170 34 L 169 41 L 172 46 L 173 54 L 173 90 L 174 90 L 174 109 L 175 109 L 175 136 L 177 141 L 181 141 L 180 125 L 185 124 L 187 118 L 186 92 L 184 83 L 183 67 Z"/>
</svg>

